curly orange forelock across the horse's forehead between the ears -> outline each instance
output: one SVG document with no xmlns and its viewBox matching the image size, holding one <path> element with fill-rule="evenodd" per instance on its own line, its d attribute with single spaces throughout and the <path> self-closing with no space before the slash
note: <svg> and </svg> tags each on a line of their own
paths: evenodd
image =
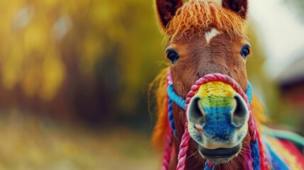
<svg viewBox="0 0 304 170">
<path fill-rule="evenodd" d="M 179 8 L 165 29 L 171 40 L 179 40 L 183 35 L 193 35 L 216 28 L 230 35 L 233 40 L 246 37 L 245 22 L 237 13 L 223 8 L 215 2 L 190 0 Z"/>
</svg>

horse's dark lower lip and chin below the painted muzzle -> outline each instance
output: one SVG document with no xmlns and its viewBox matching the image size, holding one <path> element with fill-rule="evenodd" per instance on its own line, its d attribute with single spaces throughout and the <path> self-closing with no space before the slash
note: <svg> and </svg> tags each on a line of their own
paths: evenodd
<svg viewBox="0 0 304 170">
<path fill-rule="evenodd" d="M 231 159 L 237 157 L 242 148 L 242 143 L 232 148 L 206 149 L 198 145 L 198 152 L 204 159 L 208 159 L 213 164 L 223 164 L 230 162 Z"/>
</svg>

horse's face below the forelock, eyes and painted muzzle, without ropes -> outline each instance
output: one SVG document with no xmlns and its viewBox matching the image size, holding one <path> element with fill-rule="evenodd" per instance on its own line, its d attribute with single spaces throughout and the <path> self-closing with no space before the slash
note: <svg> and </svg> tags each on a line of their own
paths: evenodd
<svg viewBox="0 0 304 170">
<path fill-rule="evenodd" d="M 167 57 L 178 94 L 186 96 L 193 82 L 213 73 L 228 75 L 247 90 L 246 60 L 241 55 L 249 45 L 246 38 L 232 41 L 227 33 L 220 32 L 211 37 L 213 31 L 208 30 L 191 42 L 168 45 Z M 213 163 L 228 162 L 242 148 L 249 112 L 231 86 L 222 82 L 208 85 L 201 87 L 188 105 L 188 131 L 203 158 Z"/>
</svg>

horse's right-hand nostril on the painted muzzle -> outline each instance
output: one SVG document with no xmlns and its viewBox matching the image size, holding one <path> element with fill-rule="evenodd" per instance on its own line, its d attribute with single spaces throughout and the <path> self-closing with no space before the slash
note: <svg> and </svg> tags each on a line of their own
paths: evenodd
<svg viewBox="0 0 304 170">
<path fill-rule="evenodd" d="M 232 124 L 236 127 L 240 127 L 248 121 L 249 111 L 246 102 L 239 94 L 235 95 L 234 98 L 236 106 L 232 110 Z"/>
</svg>

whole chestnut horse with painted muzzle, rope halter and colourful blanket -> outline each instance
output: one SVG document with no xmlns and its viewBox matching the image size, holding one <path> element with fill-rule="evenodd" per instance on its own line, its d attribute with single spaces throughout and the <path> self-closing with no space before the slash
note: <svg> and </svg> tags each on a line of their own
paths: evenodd
<svg viewBox="0 0 304 170">
<path fill-rule="evenodd" d="M 155 8 L 169 61 L 152 82 L 162 169 L 304 169 L 293 145 L 303 137 L 264 126 L 247 79 L 248 1 L 155 0 Z"/>
</svg>

